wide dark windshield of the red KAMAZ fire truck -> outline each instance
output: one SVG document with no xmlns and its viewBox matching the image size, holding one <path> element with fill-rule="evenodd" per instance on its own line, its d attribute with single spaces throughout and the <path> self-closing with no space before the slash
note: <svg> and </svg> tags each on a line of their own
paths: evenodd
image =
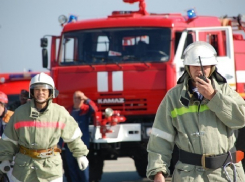
<svg viewBox="0 0 245 182">
<path fill-rule="evenodd" d="M 67 32 L 63 35 L 61 65 L 166 62 L 170 28 L 113 28 Z"/>
</svg>

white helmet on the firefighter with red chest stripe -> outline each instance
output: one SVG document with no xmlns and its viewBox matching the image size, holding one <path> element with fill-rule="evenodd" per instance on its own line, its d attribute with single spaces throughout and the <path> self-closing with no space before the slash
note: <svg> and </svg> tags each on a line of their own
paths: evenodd
<svg viewBox="0 0 245 182">
<path fill-rule="evenodd" d="M 29 86 L 29 97 L 34 98 L 34 88 L 40 87 L 49 89 L 49 99 L 55 98 L 58 96 L 58 91 L 55 89 L 54 80 L 51 76 L 41 72 L 35 75 L 30 82 Z"/>
</svg>

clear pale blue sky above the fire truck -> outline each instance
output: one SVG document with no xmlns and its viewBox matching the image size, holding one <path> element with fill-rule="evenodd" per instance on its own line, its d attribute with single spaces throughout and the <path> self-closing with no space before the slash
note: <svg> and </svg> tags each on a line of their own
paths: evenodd
<svg viewBox="0 0 245 182">
<path fill-rule="evenodd" d="M 245 14 L 245 0 L 146 0 L 151 13 L 237 16 Z M 79 20 L 106 17 L 115 10 L 138 10 L 138 3 L 122 0 L 0 0 L 0 73 L 47 71 L 42 68 L 40 38 L 59 35 L 61 14 Z M 50 52 L 50 51 L 49 51 Z"/>
</svg>

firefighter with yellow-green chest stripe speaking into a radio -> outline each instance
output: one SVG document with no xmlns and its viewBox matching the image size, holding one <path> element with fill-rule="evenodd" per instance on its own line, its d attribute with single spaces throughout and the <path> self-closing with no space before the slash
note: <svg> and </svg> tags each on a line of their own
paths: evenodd
<svg viewBox="0 0 245 182">
<path fill-rule="evenodd" d="M 217 72 L 216 56 L 202 41 L 184 51 L 185 72 L 160 103 L 147 146 L 147 177 L 154 182 L 169 175 L 174 144 L 173 182 L 245 181 L 243 153 L 234 146 L 234 130 L 245 125 L 245 102 Z"/>
</svg>

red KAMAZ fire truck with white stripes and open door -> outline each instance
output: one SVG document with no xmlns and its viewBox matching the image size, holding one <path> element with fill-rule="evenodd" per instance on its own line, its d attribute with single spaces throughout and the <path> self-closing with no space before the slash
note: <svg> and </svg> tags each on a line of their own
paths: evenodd
<svg viewBox="0 0 245 182">
<path fill-rule="evenodd" d="M 74 91 L 81 90 L 101 112 L 119 111 L 126 118 L 117 125 L 91 126 L 90 152 L 103 159 L 132 157 L 145 176 L 146 144 L 159 103 L 183 73 L 183 50 L 194 41 L 206 41 L 218 53 L 218 70 L 245 98 L 245 41 L 242 16 L 220 19 L 148 13 L 144 0 L 138 11 L 114 11 L 101 19 L 59 20 L 61 35 L 52 36 L 51 75 L 60 92 L 56 102 L 72 105 Z M 48 38 L 41 39 L 43 65 L 48 67 Z M 111 109 L 109 111 L 111 112 Z M 117 112 L 118 113 L 118 112 Z M 106 112 L 107 114 L 107 112 Z M 98 118 L 97 118 L 98 119 Z"/>
</svg>

